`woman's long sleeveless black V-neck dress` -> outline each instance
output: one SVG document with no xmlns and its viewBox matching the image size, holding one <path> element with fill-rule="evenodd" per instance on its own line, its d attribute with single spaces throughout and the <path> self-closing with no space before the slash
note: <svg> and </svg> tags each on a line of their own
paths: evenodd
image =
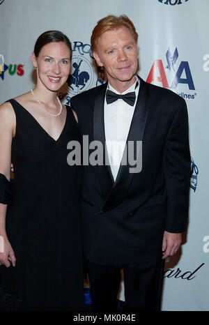
<svg viewBox="0 0 209 325">
<path fill-rule="evenodd" d="M 69 166 L 67 144 L 80 141 L 72 109 L 54 140 L 16 100 L 12 143 L 13 203 L 6 230 L 16 266 L 1 266 L 5 292 L 22 310 L 84 310 L 84 278 L 79 225 L 81 169 Z"/>
</svg>

